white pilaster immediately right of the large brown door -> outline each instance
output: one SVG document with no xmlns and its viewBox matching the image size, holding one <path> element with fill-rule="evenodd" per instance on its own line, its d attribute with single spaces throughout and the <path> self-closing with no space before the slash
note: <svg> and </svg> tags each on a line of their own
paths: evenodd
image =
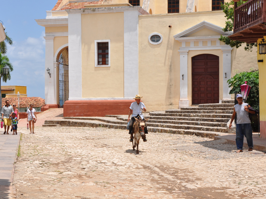
<svg viewBox="0 0 266 199">
<path fill-rule="evenodd" d="M 231 99 L 228 86 L 228 79 L 231 78 L 231 51 L 232 48 L 222 49 L 223 51 L 223 99 Z M 225 74 L 226 73 L 226 74 Z"/>
</svg>

